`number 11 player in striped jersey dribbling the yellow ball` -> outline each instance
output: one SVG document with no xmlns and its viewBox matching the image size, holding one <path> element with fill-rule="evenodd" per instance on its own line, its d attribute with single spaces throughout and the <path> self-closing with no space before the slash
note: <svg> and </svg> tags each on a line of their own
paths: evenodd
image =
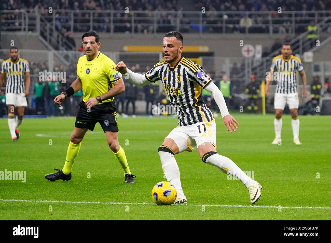
<svg viewBox="0 0 331 243">
<path fill-rule="evenodd" d="M 255 203 L 260 199 L 261 185 L 249 178 L 231 159 L 216 152 L 216 124 L 212 112 L 203 101 L 201 89 L 207 90 L 214 97 L 224 124 L 232 133 L 238 129 L 239 123 L 229 114 L 222 93 L 201 66 L 181 55 L 183 36 L 179 32 L 167 33 L 162 45 L 165 61 L 157 63 L 145 75 L 132 72 L 123 61 L 120 61 L 115 69 L 125 74 L 131 83 L 139 86 L 162 80 L 170 103 L 177 112 L 178 126 L 159 147 L 166 179 L 177 190 L 175 203 L 187 203 L 187 200 L 174 155 L 183 151 L 191 152 L 195 146 L 203 162 L 241 180 L 249 191 L 251 203 Z"/>
</svg>

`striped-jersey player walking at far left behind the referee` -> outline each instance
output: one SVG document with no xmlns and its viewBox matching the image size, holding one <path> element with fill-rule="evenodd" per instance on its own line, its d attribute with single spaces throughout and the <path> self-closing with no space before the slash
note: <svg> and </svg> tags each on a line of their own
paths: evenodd
<svg viewBox="0 0 331 243">
<path fill-rule="evenodd" d="M 18 127 L 23 121 L 24 107 L 27 106 L 26 96 L 29 94 L 30 87 L 29 62 L 19 58 L 19 55 L 17 47 L 10 48 L 10 58 L 1 63 L 0 70 L 0 88 L 7 75 L 6 104 L 8 105 L 8 126 L 13 141 L 20 138 Z M 15 106 L 17 110 L 16 120 L 14 118 Z"/>
</svg>

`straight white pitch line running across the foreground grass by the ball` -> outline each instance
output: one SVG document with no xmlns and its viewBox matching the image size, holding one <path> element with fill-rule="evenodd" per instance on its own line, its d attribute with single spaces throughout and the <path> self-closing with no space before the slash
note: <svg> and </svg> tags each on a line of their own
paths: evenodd
<svg viewBox="0 0 331 243">
<path fill-rule="evenodd" d="M 57 200 L 16 200 L 16 199 L 0 199 L 0 201 L 6 202 L 47 202 L 47 203 L 82 203 L 82 204 L 113 204 L 113 205 L 155 205 L 154 203 L 124 203 L 124 202 L 72 202 L 72 201 L 57 201 Z M 229 207 L 229 208 L 279 208 L 279 206 L 252 206 L 252 205 L 219 205 L 219 204 L 187 204 L 186 206 L 206 206 L 206 207 Z M 292 206 L 281 206 L 281 208 L 289 209 L 331 209 L 331 207 L 292 207 Z"/>
</svg>

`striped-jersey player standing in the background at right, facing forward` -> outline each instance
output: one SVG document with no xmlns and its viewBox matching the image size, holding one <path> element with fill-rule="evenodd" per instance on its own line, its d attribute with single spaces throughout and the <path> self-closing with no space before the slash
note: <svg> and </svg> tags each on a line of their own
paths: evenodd
<svg viewBox="0 0 331 243">
<path fill-rule="evenodd" d="M 281 131 L 283 126 L 282 114 L 286 103 L 288 104 L 292 116 L 292 130 L 293 130 L 293 142 L 300 145 L 299 140 L 299 126 L 300 121 L 298 118 L 299 97 L 297 93 L 297 71 L 301 76 L 302 83 L 304 85 L 302 96 L 306 99 L 306 74 L 301 60 L 296 56 L 291 55 L 292 49 L 289 43 L 284 43 L 281 50 L 281 55 L 273 58 L 270 67 L 270 73 L 268 74 L 265 86 L 265 94 L 269 94 L 269 85 L 271 82 L 271 74 L 277 79 L 277 86 L 274 98 L 274 108 L 276 117 L 274 119 L 275 134 L 276 137 L 272 141 L 272 144 L 281 144 Z M 277 72 L 277 73 L 276 73 Z M 278 74 L 278 75 L 275 75 Z"/>
</svg>

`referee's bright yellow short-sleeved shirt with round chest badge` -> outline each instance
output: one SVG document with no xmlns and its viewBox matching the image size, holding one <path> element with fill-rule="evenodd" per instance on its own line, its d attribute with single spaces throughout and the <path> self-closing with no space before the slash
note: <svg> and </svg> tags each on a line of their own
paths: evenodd
<svg viewBox="0 0 331 243">
<path fill-rule="evenodd" d="M 122 78 L 122 75 L 115 70 L 114 61 L 99 51 L 98 56 L 91 61 L 86 59 L 86 55 L 78 59 L 77 77 L 82 82 L 83 101 L 85 102 L 90 98 L 107 93 L 113 84 Z M 111 98 L 102 103 L 114 100 L 115 98 Z"/>
</svg>

